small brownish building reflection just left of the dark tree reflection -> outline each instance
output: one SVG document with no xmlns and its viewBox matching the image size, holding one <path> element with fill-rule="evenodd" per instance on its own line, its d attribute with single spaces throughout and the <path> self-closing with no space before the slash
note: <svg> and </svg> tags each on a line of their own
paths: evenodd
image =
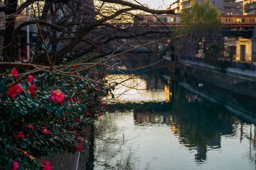
<svg viewBox="0 0 256 170">
<path fill-rule="evenodd" d="M 169 113 L 136 113 L 134 111 L 134 122 L 136 124 L 169 124 Z"/>
</svg>

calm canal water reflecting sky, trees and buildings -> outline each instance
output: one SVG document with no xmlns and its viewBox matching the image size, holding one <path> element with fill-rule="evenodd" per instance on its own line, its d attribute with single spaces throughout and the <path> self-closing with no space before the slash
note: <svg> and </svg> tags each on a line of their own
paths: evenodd
<svg viewBox="0 0 256 170">
<path fill-rule="evenodd" d="M 195 81 L 108 78 L 130 79 L 95 124 L 93 169 L 256 168 L 255 101 Z"/>
</svg>

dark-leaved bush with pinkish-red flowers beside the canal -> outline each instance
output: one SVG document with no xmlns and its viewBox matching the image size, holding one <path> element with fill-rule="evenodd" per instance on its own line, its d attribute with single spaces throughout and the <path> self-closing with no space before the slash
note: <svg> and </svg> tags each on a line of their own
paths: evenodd
<svg viewBox="0 0 256 170">
<path fill-rule="evenodd" d="M 24 78 L 12 69 L 1 76 L 0 169 L 52 169 L 51 162 L 35 158 L 83 152 L 86 125 L 101 115 L 110 90 L 104 84 L 90 73 L 81 79 L 52 73 Z"/>
</svg>

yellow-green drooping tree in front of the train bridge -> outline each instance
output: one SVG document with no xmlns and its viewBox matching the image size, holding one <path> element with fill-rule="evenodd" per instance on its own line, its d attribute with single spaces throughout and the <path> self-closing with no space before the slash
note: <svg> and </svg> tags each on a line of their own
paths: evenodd
<svg viewBox="0 0 256 170">
<path fill-rule="evenodd" d="M 176 34 L 190 32 L 189 37 L 180 39 L 175 44 L 176 51 L 182 57 L 204 57 L 216 61 L 221 57 L 221 22 L 219 11 L 209 1 L 200 4 L 192 1 L 192 8 L 182 11 Z M 212 49 L 218 49 L 216 51 Z"/>
</svg>

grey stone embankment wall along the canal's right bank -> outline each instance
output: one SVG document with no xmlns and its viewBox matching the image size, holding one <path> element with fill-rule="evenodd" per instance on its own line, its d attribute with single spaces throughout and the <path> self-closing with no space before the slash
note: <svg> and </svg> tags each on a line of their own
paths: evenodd
<svg viewBox="0 0 256 170">
<path fill-rule="evenodd" d="M 184 62 L 187 77 L 256 98 L 256 71 L 228 67 L 225 71 L 201 62 Z"/>
</svg>

